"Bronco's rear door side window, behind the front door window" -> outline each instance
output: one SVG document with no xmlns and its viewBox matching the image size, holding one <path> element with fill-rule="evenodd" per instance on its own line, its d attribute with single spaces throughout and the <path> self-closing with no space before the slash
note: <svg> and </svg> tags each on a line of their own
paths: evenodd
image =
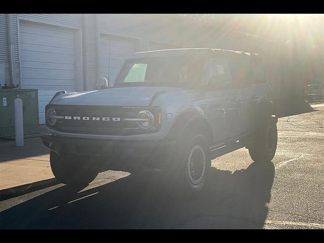
<svg viewBox="0 0 324 243">
<path fill-rule="evenodd" d="M 234 89 L 251 87 L 253 77 L 249 59 L 231 60 L 230 69 Z"/>
</svg>

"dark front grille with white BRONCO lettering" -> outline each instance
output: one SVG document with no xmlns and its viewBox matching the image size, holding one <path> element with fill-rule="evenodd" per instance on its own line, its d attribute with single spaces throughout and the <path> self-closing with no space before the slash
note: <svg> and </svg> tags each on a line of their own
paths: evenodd
<svg viewBox="0 0 324 243">
<path fill-rule="evenodd" d="M 154 117 L 157 117 L 159 112 L 157 107 L 50 105 L 47 108 L 54 108 L 58 116 L 71 116 L 71 119 L 57 119 L 55 126 L 50 126 L 60 132 L 134 135 L 152 133 L 159 130 L 157 119 L 154 119 L 154 125 L 151 129 L 142 129 L 134 121 L 123 120 L 123 118 L 135 118 L 138 112 L 143 109 L 151 111 Z M 73 119 L 74 116 L 80 116 L 80 120 Z M 84 120 L 83 117 L 89 120 Z M 99 117 L 100 120 L 93 120 L 93 117 L 96 117 L 96 119 Z M 103 117 L 106 117 L 106 120 L 102 120 Z M 107 120 L 108 118 L 109 120 Z"/>
</svg>

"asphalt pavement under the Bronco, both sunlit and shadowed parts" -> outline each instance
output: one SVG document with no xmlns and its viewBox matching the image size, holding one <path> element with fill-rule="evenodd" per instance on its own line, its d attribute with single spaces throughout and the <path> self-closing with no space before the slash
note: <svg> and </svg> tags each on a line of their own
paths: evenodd
<svg viewBox="0 0 324 243">
<path fill-rule="evenodd" d="M 323 104 L 279 118 L 270 163 L 242 148 L 212 161 L 186 197 L 158 171 L 107 171 L 78 191 L 58 184 L 0 202 L 0 228 L 324 229 Z"/>
</svg>

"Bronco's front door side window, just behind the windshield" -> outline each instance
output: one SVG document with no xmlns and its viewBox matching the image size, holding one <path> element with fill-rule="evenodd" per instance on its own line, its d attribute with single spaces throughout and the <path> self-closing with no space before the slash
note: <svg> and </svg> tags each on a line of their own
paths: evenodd
<svg viewBox="0 0 324 243">
<path fill-rule="evenodd" d="M 208 89 L 224 90 L 232 88 L 232 77 L 228 60 L 213 58 L 211 61 Z"/>
</svg>

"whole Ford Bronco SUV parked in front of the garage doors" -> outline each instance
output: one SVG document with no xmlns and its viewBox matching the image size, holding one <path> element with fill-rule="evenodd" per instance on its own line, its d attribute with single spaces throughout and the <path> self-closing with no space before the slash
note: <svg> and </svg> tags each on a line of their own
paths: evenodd
<svg viewBox="0 0 324 243">
<path fill-rule="evenodd" d="M 258 54 L 170 49 L 133 54 L 106 89 L 58 92 L 42 140 L 62 183 L 154 168 L 194 192 L 218 156 L 246 147 L 257 163 L 270 161 L 276 123 Z"/>
</svg>

